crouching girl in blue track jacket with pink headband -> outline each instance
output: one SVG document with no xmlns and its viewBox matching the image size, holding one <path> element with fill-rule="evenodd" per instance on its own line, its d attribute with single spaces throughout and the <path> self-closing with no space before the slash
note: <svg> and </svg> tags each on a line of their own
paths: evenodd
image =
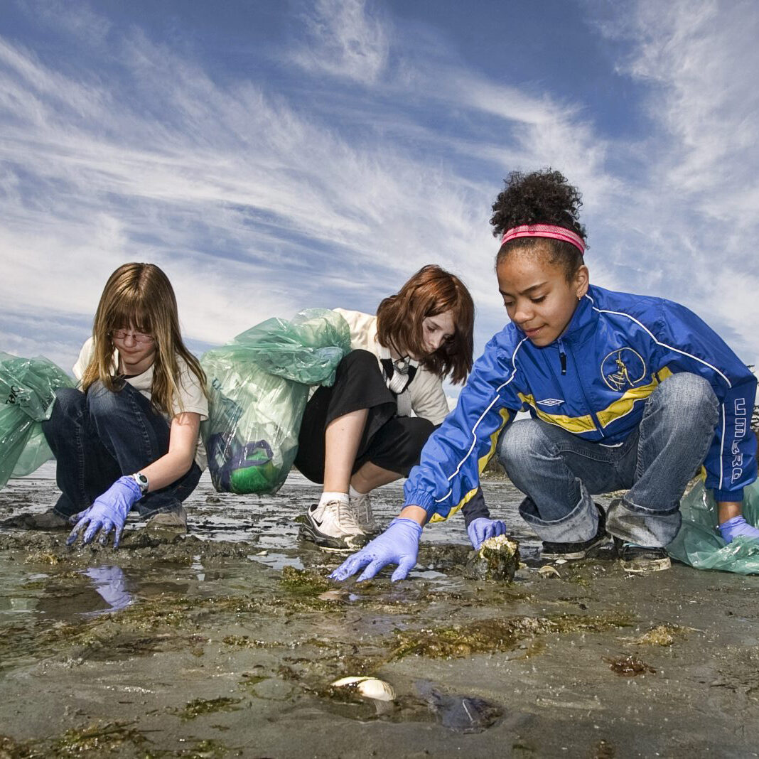
<svg viewBox="0 0 759 759">
<path fill-rule="evenodd" d="M 474 364 L 433 433 L 385 533 L 333 577 L 416 563 L 422 526 L 477 489 L 496 453 L 525 497 L 546 559 L 580 559 L 613 537 L 631 572 L 669 568 L 679 501 L 703 464 L 726 542 L 759 538 L 742 516 L 756 479 L 756 378 L 687 308 L 591 285 L 581 196 L 559 172 L 513 172 L 493 204 L 499 291 L 509 323 Z M 517 411 L 531 418 L 514 421 Z M 624 490 L 606 512 L 597 493 Z"/>
</svg>

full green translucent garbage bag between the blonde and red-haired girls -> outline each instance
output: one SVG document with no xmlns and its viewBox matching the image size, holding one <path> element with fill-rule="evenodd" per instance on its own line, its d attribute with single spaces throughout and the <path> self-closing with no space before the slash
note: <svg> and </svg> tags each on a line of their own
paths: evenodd
<svg viewBox="0 0 759 759">
<path fill-rule="evenodd" d="M 298 452 L 309 387 L 332 385 L 350 350 L 351 330 L 339 313 L 308 309 L 203 354 L 210 397 L 202 433 L 216 490 L 279 490 Z"/>
</svg>

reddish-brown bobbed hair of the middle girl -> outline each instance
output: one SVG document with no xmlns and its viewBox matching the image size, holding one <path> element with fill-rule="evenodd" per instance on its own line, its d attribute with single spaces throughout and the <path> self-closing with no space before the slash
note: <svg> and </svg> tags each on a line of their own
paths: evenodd
<svg viewBox="0 0 759 759">
<path fill-rule="evenodd" d="M 455 333 L 427 354 L 422 339 L 424 320 L 446 311 L 452 312 Z M 466 285 L 439 266 L 423 266 L 398 293 L 379 304 L 377 339 L 386 348 L 419 356 L 420 364 L 439 377 L 450 374 L 452 383 L 464 382 L 474 351 L 474 302 Z"/>
</svg>

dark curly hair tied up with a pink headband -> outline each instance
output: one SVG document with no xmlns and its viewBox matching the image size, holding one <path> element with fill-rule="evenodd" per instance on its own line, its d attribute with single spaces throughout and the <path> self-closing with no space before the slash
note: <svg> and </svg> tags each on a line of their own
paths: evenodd
<svg viewBox="0 0 759 759">
<path fill-rule="evenodd" d="M 582 196 L 567 178 L 552 168 L 523 174 L 511 172 L 504 189 L 493 203 L 493 237 L 500 237 L 513 227 L 524 224 L 554 224 L 571 229 L 585 240 L 585 228 L 579 222 Z M 561 266 L 567 280 L 584 265 L 581 252 L 572 243 L 551 238 L 518 238 L 503 244 L 496 257 L 496 267 L 512 250 L 540 247 L 550 250 L 549 263 Z"/>
</svg>

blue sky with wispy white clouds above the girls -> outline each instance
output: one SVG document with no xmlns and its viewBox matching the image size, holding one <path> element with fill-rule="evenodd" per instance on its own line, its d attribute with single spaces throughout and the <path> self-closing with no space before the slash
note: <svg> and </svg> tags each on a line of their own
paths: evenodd
<svg viewBox="0 0 759 759">
<path fill-rule="evenodd" d="M 757 39 L 753 0 L 5 0 L 0 350 L 71 367 L 128 260 L 165 269 L 198 352 L 439 263 L 480 349 L 490 204 L 551 165 L 593 282 L 757 363 Z"/>
</svg>

